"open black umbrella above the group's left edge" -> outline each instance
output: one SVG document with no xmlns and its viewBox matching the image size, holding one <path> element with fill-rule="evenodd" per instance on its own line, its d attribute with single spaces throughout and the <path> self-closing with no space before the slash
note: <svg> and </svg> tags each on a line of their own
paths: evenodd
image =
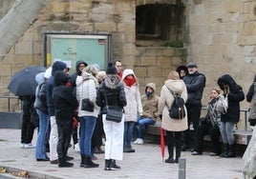
<svg viewBox="0 0 256 179">
<path fill-rule="evenodd" d="M 10 89 L 15 96 L 34 95 L 37 87 L 35 75 L 45 70 L 45 67 L 32 66 L 16 72 L 11 77 L 8 89 Z"/>
</svg>

